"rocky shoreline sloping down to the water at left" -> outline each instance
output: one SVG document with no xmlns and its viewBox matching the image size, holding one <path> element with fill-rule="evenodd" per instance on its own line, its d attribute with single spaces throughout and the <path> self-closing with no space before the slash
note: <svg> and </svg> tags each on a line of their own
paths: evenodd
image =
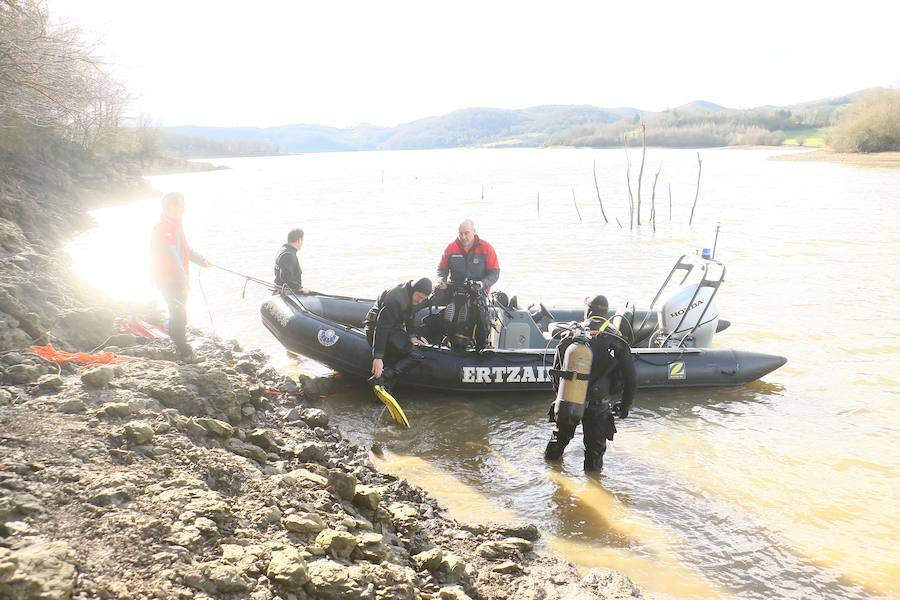
<svg viewBox="0 0 900 600">
<path fill-rule="evenodd" d="M 0 177 L 0 598 L 642 597 L 535 552 L 534 525 L 458 523 L 377 471 L 329 424 L 329 380 L 198 331 L 191 364 L 119 333 L 147 309 L 70 274 L 59 247 L 89 221 L 65 177 Z"/>
</svg>

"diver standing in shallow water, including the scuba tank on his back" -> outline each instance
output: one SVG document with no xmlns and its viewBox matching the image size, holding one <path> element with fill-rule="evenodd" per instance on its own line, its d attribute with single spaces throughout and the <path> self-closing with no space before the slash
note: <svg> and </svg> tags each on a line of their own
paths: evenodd
<svg viewBox="0 0 900 600">
<path fill-rule="evenodd" d="M 590 301 L 584 323 L 573 326 L 557 346 L 550 371 L 557 397 L 549 415 L 556 428 L 544 458 L 562 457 L 580 421 L 585 471 L 603 468 L 606 441 L 616 433 L 613 415 L 620 419 L 628 416 L 637 387 L 631 348 L 606 320 L 607 311 L 603 296 Z M 610 398 L 620 391 L 620 401 L 610 406 Z"/>
</svg>

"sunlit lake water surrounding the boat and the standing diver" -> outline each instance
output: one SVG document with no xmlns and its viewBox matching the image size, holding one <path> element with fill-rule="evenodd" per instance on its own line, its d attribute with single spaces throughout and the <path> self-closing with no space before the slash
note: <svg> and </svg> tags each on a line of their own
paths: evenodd
<svg viewBox="0 0 900 600">
<path fill-rule="evenodd" d="M 721 225 L 718 305 L 733 325 L 716 346 L 789 362 L 740 388 L 639 392 L 599 481 L 581 471 L 580 437 L 562 467 L 544 463 L 549 394 L 403 393 L 409 431 L 361 386 L 325 408 L 359 443 L 388 448 L 382 467 L 455 516 L 530 519 L 570 560 L 620 569 L 661 597 L 897 597 L 900 170 L 773 154 L 701 151 L 689 226 L 696 152 L 648 150 L 645 221 L 662 166 L 655 232 L 629 230 L 621 150 L 228 159 L 215 162 L 229 170 L 151 180 L 185 193 L 185 229 L 212 261 L 271 279 L 300 226 L 304 283 L 363 297 L 432 275 L 472 218 L 497 249 L 496 289 L 521 303 L 576 306 L 603 293 L 613 306 L 646 306 L 675 259 L 711 246 Z M 640 155 L 631 158 L 636 177 Z M 115 297 L 155 297 L 145 265 L 158 213 L 156 198 L 96 211 L 97 228 L 69 247 L 76 269 Z M 324 372 L 283 358 L 259 320 L 263 289 L 251 284 L 242 298 L 243 280 L 217 269 L 192 278 L 192 324 L 208 328 L 211 315 L 217 333 L 268 350 L 289 372 Z"/>
</svg>

